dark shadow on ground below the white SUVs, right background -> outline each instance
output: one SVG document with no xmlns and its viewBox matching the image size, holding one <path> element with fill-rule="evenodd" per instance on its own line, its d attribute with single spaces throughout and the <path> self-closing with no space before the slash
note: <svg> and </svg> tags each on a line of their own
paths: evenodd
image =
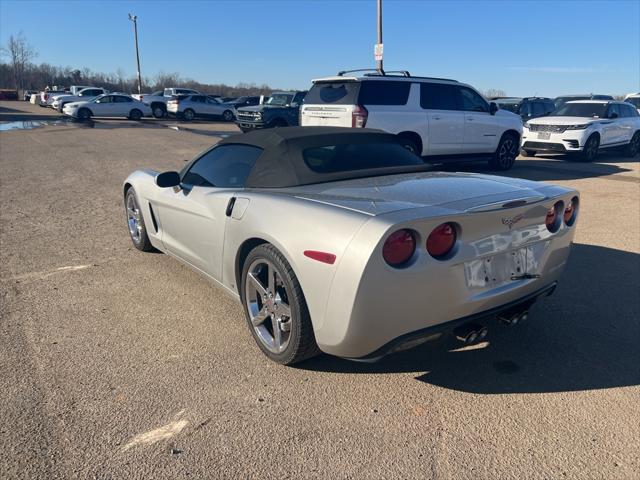
<svg viewBox="0 0 640 480">
<path fill-rule="evenodd" d="M 538 158 L 538 157 L 536 157 Z M 506 172 L 491 170 L 486 163 L 450 163 L 434 165 L 434 170 L 445 172 L 473 172 L 487 175 L 526 178 L 536 181 L 575 180 L 582 178 L 607 177 L 619 173 L 631 172 L 631 168 L 624 168 L 610 163 L 637 163 L 640 157 L 625 158 L 607 155 L 598 157 L 596 163 L 581 163 L 564 159 L 563 156 L 540 157 L 540 160 L 516 160 L 513 168 Z M 618 176 L 616 180 L 638 182 L 633 176 Z"/>
</svg>

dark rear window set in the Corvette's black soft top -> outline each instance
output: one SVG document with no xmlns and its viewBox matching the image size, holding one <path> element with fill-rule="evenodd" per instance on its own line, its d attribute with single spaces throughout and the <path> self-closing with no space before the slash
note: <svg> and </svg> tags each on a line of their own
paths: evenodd
<svg viewBox="0 0 640 480">
<path fill-rule="evenodd" d="M 396 143 L 350 143 L 307 148 L 304 162 L 316 173 L 424 165 L 420 157 Z"/>
</svg>

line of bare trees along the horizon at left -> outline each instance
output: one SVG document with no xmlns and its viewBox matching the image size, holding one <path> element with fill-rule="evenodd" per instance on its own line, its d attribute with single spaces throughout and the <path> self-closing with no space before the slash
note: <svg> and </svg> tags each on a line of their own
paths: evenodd
<svg viewBox="0 0 640 480">
<path fill-rule="evenodd" d="M 22 33 L 11 35 L 7 45 L 2 47 L 0 60 L 0 88 L 24 90 L 44 90 L 54 86 L 68 88 L 71 85 L 91 85 L 106 88 L 109 91 L 138 91 L 135 76 L 127 76 L 121 69 L 115 73 L 93 72 L 88 68 L 55 66 L 48 63 L 36 64 L 35 50 L 29 45 Z M 7 59 L 7 61 L 5 61 Z M 274 90 L 269 85 L 239 83 L 235 86 L 225 84 L 201 83 L 183 78 L 178 73 L 161 72 L 156 76 L 142 79 L 143 93 L 161 90 L 165 87 L 192 88 L 202 93 L 217 94 L 223 97 L 242 95 L 270 95 Z"/>
</svg>

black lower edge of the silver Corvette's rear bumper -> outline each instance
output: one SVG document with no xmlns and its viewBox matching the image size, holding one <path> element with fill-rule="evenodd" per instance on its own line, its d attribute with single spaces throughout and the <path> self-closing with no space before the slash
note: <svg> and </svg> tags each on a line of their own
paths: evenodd
<svg viewBox="0 0 640 480">
<path fill-rule="evenodd" d="M 490 308 L 484 312 L 467 315 L 466 317 L 451 320 L 446 323 L 406 333 L 386 343 L 378 350 L 362 357 L 354 357 L 352 360 L 376 361 L 390 353 L 405 350 L 430 340 L 437 340 L 443 335 L 452 333 L 453 330 L 460 325 L 464 325 L 466 323 L 479 323 L 480 325 L 485 325 L 489 322 L 496 321 L 501 314 L 526 311 L 531 308 L 539 298 L 551 296 L 557 286 L 558 282 L 553 282 L 540 290 L 518 298 L 517 300 L 505 303 L 504 305 L 500 305 L 499 307 Z"/>
</svg>

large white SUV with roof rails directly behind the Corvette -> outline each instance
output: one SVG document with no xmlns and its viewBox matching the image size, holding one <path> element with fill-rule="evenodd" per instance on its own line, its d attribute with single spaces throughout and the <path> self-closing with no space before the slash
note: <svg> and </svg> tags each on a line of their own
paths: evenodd
<svg viewBox="0 0 640 480">
<path fill-rule="evenodd" d="M 313 81 L 300 125 L 378 128 L 397 134 L 429 161 L 488 160 L 508 170 L 518 156 L 522 119 L 473 87 L 440 78 L 369 73 Z"/>
</svg>

